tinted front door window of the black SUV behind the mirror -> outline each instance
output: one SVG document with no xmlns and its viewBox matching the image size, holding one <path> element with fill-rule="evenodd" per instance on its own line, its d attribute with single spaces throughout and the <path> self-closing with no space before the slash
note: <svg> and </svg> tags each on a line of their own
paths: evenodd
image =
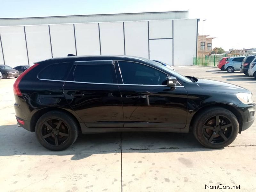
<svg viewBox="0 0 256 192">
<path fill-rule="evenodd" d="M 167 75 L 139 63 L 118 61 L 124 84 L 166 85 Z"/>
</svg>

